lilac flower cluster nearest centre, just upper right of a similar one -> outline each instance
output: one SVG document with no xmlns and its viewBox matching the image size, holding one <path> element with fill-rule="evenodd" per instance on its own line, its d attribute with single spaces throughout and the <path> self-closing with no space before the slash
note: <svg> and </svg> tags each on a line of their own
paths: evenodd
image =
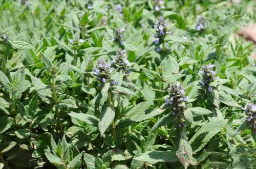
<svg viewBox="0 0 256 169">
<path fill-rule="evenodd" d="M 127 59 L 126 50 L 117 49 L 116 56 L 113 58 L 112 66 L 121 68 L 124 73 L 130 73 L 130 62 Z"/>
</svg>

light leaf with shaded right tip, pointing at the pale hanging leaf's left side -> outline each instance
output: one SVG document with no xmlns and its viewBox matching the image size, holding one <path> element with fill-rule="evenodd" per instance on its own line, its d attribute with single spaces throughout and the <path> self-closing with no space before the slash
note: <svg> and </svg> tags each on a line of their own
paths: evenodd
<svg viewBox="0 0 256 169">
<path fill-rule="evenodd" d="M 86 123 L 94 125 L 94 126 L 97 126 L 98 123 L 99 123 L 99 119 L 97 119 L 93 115 L 83 114 L 83 113 L 76 113 L 76 112 L 73 112 L 73 111 L 71 111 L 68 115 L 71 116 L 72 118 L 78 119 L 82 122 L 86 122 Z"/>
</svg>

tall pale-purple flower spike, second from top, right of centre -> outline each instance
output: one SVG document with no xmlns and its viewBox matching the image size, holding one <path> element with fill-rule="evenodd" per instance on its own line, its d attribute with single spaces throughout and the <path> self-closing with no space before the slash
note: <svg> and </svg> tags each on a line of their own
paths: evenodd
<svg viewBox="0 0 256 169">
<path fill-rule="evenodd" d="M 154 34 L 155 44 L 160 43 L 166 35 L 170 34 L 169 27 L 166 25 L 166 21 L 162 16 L 160 16 L 154 25 L 154 29 L 156 30 L 156 34 Z"/>
</svg>

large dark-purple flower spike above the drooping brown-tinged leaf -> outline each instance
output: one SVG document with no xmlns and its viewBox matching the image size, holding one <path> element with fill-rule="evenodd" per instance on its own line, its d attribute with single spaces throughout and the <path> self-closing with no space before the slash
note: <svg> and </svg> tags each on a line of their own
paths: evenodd
<svg viewBox="0 0 256 169">
<path fill-rule="evenodd" d="M 188 97 L 185 96 L 183 86 L 180 82 L 172 83 L 168 88 L 169 98 L 165 100 L 165 104 L 172 105 L 173 115 L 182 117 L 183 111 L 187 108 L 185 102 L 188 101 Z"/>
</svg>

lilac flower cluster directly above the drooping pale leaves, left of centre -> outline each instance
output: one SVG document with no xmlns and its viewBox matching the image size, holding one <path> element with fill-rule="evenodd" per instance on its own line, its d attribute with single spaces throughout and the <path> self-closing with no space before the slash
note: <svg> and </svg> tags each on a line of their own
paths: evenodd
<svg viewBox="0 0 256 169">
<path fill-rule="evenodd" d="M 106 63 L 103 59 L 98 59 L 98 65 L 94 69 L 94 74 L 102 82 L 110 81 L 111 73 L 114 68 L 111 68 L 111 65 Z"/>
</svg>

